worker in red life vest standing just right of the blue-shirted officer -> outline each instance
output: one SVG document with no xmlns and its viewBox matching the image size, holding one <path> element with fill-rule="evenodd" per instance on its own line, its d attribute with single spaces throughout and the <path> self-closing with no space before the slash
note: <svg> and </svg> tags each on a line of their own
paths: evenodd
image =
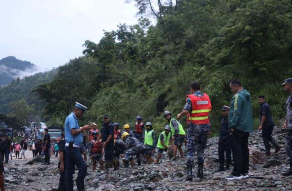
<svg viewBox="0 0 292 191">
<path fill-rule="evenodd" d="M 92 131 L 93 139 L 90 141 L 90 159 L 92 160 L 92 170 L 96 170 L 96 162 L 99 162 L 100 170 L 103 170 L 102 162 L 102 140 L 98 138 L 98 132 Z"/>
</svg>

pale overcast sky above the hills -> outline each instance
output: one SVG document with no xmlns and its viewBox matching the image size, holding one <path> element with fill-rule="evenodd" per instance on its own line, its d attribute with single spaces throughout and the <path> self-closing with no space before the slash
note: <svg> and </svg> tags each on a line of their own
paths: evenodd
<svg viewBox="0 0 292 191">
<path fill-rule="evenodd" d="M 45 69 L 82 56 L 119 23 L 137 23 L 125 0 L 0 0 L 0 59 L 15 56 Z"/>
</svg>

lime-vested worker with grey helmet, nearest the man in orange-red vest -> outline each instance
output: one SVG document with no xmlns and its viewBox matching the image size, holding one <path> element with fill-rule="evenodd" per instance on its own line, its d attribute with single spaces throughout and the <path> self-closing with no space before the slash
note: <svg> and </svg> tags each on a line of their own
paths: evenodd
<svg viewBox="0 0 292 191">
<path fill-rule="evenodd" d="M 173 144 L 173 160 L 176 160 L 176 153 L 179 149 L 179 154 L 181 158 L 183 158 L 182 152 L 182 144 L 184 143 L 186 132 L 183 130 L 182 125 L 179 123 L 178 120 L 172 118 L 170 111 L 164 111 L 164 117 L 168 121 L 169 126 L 171 128 L 172 133 L 172 140 L 174 141 Z"/>
</svg>

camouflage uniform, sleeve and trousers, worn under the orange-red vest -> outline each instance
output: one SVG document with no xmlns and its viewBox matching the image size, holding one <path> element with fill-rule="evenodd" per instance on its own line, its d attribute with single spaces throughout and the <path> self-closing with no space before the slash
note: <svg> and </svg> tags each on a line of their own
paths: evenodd
<svg viewBox="0 0 292 191">
<path fill-rule="evenodd" d="M 202 95 L 200 91 L 195 92 L 194 94 Z M 192 113 L 192 102 L 190 98 L 186 99 L 186 104 L 184 106 L 185 110 Z M 201 124 L 195 125 L 193 123 L 189 123 L 188 131 L 187 131 L 187 158 L 186 165 L 194 164 L 194 154 L 197 151 L 198 154 L 198 163 L 204 162 L 204 149 L 206 148 L 207 143 L 207 134 L 208 131 L 211 130 L 211 124 Z"/>
</svg>

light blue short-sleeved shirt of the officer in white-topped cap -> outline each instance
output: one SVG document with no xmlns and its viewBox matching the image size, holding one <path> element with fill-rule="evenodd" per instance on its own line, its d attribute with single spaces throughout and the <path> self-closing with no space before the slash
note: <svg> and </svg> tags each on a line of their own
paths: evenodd
<svg viewBox="0 0 292 191">
<path fill-rule="evenodd" d="M 79 129 L 78 120 L 74 113 L 68 115 L 65 120 L 65 141 L 68 143 L 73 142 L 73 144 L 80 146 L 83 143 L 83 135 L 79 133 L 73 136 L 71 129 Z"/>
</svg>

